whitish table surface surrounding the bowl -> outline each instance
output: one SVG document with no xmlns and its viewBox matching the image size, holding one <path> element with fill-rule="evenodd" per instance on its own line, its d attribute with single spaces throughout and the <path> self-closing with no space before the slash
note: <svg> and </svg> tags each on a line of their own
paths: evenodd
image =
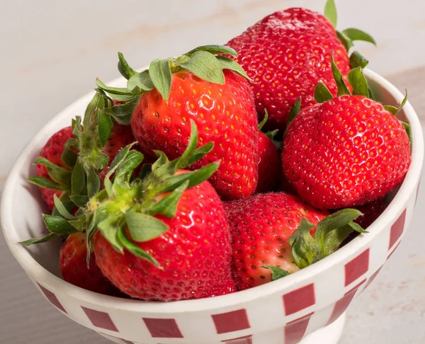
<svg viewBox="0 0 425 344">
<path fill-rule="evenodd" d="M 336 2 L 339 28 L 356 25 L 378 40 L 378 48 L 358 45 L 370 58 L 370 68 L 413 91 L 416 110 L 425 110 L 425 49 L 419 45 L 425 40 L 425 1 Z M 142 67 L 156 57 L 197 45 L 223 44 L 278 9 L 307 6 L 322 11 L 323 4 L 324 0 L 0 0 L 0 190 L 19 151 L 47 120 L 94 88 L 96 76 L 103 81 L 118 76 L 116 52 Z M 424 193 L 418 209 L 425 206 Z M 348 310 L 341 344 L 425 343 L 424 241 L 416 212 L 399 249 Z M 0 262 L 1 344 L 109 343 L 45 302 L 2 236 Z"/>
</svg>

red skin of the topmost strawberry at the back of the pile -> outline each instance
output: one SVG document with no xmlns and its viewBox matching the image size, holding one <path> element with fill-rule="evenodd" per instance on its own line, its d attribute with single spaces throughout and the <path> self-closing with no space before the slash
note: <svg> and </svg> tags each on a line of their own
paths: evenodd
<svg viewBox="0 0 425 344">
<path fill-rule="evenodd" d="M 266 16 L 227 45 L 238 52 L 238 62 L 253 80 L 256 110 L 265 129 L 284 130 L 290 108 L 302 98 L 302 108 L 316 103 L 314 88 L 321 81 L 336 96 L 331 74 L 331 52 L 346 76 L 350 62 L 331 23 L 305 8 L 288 8 Z"/>
</svg>

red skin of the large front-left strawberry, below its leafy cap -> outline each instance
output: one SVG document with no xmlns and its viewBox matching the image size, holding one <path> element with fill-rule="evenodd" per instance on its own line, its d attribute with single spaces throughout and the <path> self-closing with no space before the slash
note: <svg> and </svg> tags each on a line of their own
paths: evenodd
<svg viewBox="0 0 425 344">
<path fill-rule="evenodd" d="M 229 224 L 222 202 L 208 182 L 183 193 L 176 217 L 157 218 L 169 225 L 169 231 L 137 245 L 162 268 L 128 251 L 118 253 L 100 231 L 96 232 L 98 266 L 120 290 L 138 299 L 164 302 L 235 291 L 230 273 Z"/>
</svg>

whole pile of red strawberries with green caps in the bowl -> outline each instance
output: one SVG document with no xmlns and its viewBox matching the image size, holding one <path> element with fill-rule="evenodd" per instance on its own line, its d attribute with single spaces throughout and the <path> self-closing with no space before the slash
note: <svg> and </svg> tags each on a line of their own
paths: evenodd
<svg viewBox="0 0 425 344">
<path fill-rule="evenodd" d="M 409 126 L 373 98 L 354 40 L 289 8 L 227 45 L 155 59 L 127 87 L 96 81 L 37 176 L 64 280 L 143 300 L 215 297 L 329 256 L 385 210 L 407 173 Z M 365 234 L 367 235 L 367 234 Z"/>
</svg>

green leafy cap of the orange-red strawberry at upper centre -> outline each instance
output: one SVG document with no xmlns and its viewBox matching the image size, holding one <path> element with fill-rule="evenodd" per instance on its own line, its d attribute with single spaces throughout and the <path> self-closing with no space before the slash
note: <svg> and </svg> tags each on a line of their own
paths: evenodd
<svg viewBox="0 0 425 344">
<path fill-rule="evenodd" d="M 249 79 L 244 69 L 234 59 L 222 55 L 237 57 L 237 52 L 225 45 L 203 45 L 180 57 L 154 59 L 149 64 L 149 69 L 139 73 L 129 66 L 123 54 L 119 52 L 118 70 L 125 79 L 128 79 L 127 88 L 108 87 L 100 80 L 97 80 L 96 84 L 116 101 L 135 101 L 142 93 L 152 91 L 153 88 L 157 88 L 162 98 L 168 101 L 171 75 L 179 71 L 191 71 L 200 79 L 213 84 L 225 84 L 224 69 L 232 70 Z"/>
</svg>

